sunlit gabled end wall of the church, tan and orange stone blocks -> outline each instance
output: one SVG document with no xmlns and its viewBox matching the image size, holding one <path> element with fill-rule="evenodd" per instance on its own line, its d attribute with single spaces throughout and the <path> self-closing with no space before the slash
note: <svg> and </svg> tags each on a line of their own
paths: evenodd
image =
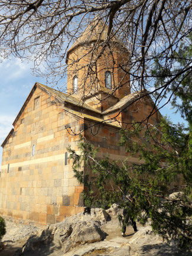
<svg viewBox="0 0 192 256">
<path fill-rule="evenodd" d="M 79 140 L 66 128 L 78 131 L 82 125 L 53 96 L 35 90 L 4 145 L 1 215 L 45 224 L 83 210 L 83 187 L 73 177 L 70 160 L 65 163 L 67 147 L 77 150 Z"/>
</svg>

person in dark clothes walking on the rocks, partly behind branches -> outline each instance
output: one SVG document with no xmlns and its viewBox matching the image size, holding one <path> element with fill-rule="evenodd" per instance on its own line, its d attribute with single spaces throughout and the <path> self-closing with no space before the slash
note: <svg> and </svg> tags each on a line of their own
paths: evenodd
<svg viewBox="0 0 192 256">
<path fill-rule="evenodd" d="M 125 236 L 126 226 L 128 226 L 129 218 L 131 219 L 134 232 L 137 232 L 136 222 L 131 218 L 131 210 L 134 208 L 134 195 L 132 193 L 127 193 L 126 196 L 123 196 L 123 200 L 127 203 L 128 208 L 123 209 L 123 223 L 122 223 L 122 236 Z"/>
</svg>

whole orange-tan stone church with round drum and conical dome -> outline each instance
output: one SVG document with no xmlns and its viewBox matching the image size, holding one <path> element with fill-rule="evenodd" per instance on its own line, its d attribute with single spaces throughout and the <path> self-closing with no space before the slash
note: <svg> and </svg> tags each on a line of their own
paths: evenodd
<svg viewBox="0 0 192 256">
<path fill-rule="evenodd" d="M 117 146 L 119 129 L 144 120 L 154 103 L 149 96 L 141 99 L 145 91 L 131 93 L 122 68 L 129 51 L 116 37 L 105 44 L 107 36 L 108 27 L 93 22 L 68 50 L 67 93 L 33 86 L 2 143 L 2 216 L 45 225 L 83 211 L 83 186 L 67 155 L 69 145 L 78 150 L 79 134 L 100 148 L 100 157 L 128 157 Z M 155 112 L 149 122 L 160 117 Z"/>
</svg>

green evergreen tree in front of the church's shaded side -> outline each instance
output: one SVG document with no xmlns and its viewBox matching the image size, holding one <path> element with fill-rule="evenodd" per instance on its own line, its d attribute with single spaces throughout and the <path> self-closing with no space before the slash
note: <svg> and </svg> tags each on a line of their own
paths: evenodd
<svg viewBox="0 0 192 256">
<path fill-rule="evenodd" d="M 175 69 L 179 72 L 186 65 L 185 60 L 191 58 L 191 45 L 184 43 L 173 54 L 178 57 L 179 66 Z M 164 76 L 158 76 L 161 79 L 158 78 L 155 84 L 160 86 L 174 70 L 166 70 L 158 61 L 156 64 L 154 70 L 164 73 Z M 177 80 L 182 87 L 177 88 Z M 85 186 L 83 198 L 86 206 L 108 208 L 118 202 L 119 207 L 129 210 L 132 219 L 142 224 L 150 219 L 152 229 L 162 238 L 168 241 L 177 238 L 181 244 L 191 244 L 191 73 L 181 74 L 177 80 L 171 84 L 168 93 L 173 94 L 171 104 L 188 121 L 187 128 L 162 118 L 156 126 L 133 124 L 131 129 L 121 130 L 119 146 L 125 147 L 130 156 L 138 157 L 139 164 L 130 164 L 129 157 L 123 163 L 112 161 L 107 155 L 100 159 L 97 157 L 98 148 L 83 137 L 79 142 L 80 154 L 70 148 L 69 151 L 74 176 Z M 122 200 L 129 191 L 134 194 L 131 208 L 130 203 Z M 173 192 L 180 193 L 170 197 Z"/>
</svg>

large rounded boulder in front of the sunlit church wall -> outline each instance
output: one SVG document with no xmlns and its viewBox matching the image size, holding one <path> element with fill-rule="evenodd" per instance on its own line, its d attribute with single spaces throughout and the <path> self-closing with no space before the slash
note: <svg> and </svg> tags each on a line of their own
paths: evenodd
<svg viewBox="0 0 192 256">
<path fill-rule="evenodd" d="M 100 229 L 99 221 L 79 221 L 69 222 L 66 219 L 56 225 L 50 225 L 44 229 L 40 236 L 31 236 L 25 243 L 19 255 L 26 255 L 28 252 L 38 252 L 38 255 L 45 251 L 56 251 L 61 249 L 63 252 L 77 245 L 90 244 L 101 241 L 106 237 L 105 232 Z"/>
</svg>

